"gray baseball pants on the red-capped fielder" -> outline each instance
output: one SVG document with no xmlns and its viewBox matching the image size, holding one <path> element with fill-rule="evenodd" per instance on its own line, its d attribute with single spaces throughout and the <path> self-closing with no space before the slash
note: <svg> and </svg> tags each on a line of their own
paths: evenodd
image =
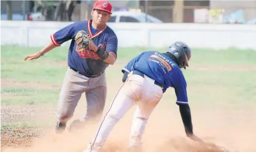
<svg viewBox="0 0 256 152">
<path fill-rule="evenodd" d="M 105 72 L 97 78 L 88 78 L 68 68 L 59 94 L 57 118 L 60 122 L 68 122 L 82 93 L 86 94 L 87 112 L 80 120 L 99 121 L 106 100 Z"/>
</svg>

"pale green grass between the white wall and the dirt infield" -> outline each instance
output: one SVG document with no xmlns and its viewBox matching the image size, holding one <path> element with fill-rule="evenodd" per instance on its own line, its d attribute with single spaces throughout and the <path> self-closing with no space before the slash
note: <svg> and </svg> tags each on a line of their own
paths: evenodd
<svg viewBox="0 0 256 152">
<path fill-rule="evenodd" d="M 48 52 L 45 56 L 33 61 L 23 61 L 26 55 L 35 53 L 40 48 L 27 48 L 17 46 L 1 46 L 1 78 L 12 79 L 17 82 L 40 82 L 42 84 L 60 86 L 67 70 L 68 48 L 58 47 Z M 116 75 L 121 76 L 121 68 L 130 59 L 140 54 L 148 48 L 120 48 L 118 50 L 119 65 L 115 64 L 107 68 L 107 75 L 111 81 L 115 81 Z M 253 50 L 205 50 L 193 49 L 191 65 L 207 66 L 256 66 L 256 51 Z M 61 62 L 62 64 L 57 64 Z M 251 80 L 256 78 L 255 71 L 223 71 L 223 70 L 183 70 L 188 81 L 188 86 L 198 86 L 198 88 L 229 88 L 237 89 L 236 93 L 249 95 L 255 83 Z M 121 78 L 120 78 L 121 79 Z M 241 80 L 243 80 L 241 82 Z M 241 82 L 241 83 L 240 83 Z M 25 86 L 24 86 L 25 87 Z M 30 90 L 29 90 L 30 89 Z M 247 90 L 247 91 L 244 91 Z M 58 98 L 59 90 L 36 90 L 35 88 L 2 88 L 1 95 L 26 95 L 31 96 L 28 103 L 46 103 Z M 248 93 L 249 92 L 249 93 Z M 41 97 L 36 97 L 36 96 Z M 28 99 L 3 99 L 2 103 L 26 103 Z"/>
</svg>

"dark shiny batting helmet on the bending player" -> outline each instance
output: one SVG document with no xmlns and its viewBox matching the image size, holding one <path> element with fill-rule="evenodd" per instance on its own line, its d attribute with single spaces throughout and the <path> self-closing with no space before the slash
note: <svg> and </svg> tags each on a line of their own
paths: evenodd
<svg viewBox="0 0 256 152">
<path fill-rule="evenodd" d="M 188 67 L 188 61 L 191 58 L 191 49 L 182 41 L 176 41 L 167 49 L 178 61 L 179 68 Z"/>
</svg>

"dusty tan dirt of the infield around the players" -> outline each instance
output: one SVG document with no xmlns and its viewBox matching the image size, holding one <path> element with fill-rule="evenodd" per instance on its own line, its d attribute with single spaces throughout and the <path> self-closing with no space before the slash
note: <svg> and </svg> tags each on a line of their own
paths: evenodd
<svg viewBox="0 0 256 152">
<path fill-rule="evenodd" d="M 193 67 L 192 70 L 235 70 L 255 71 L 255 67 Z M 2 83 L 2 82 L 1 82 Z M 23 86 L 38 86 L 41 89 L 56 89 L 59 86 L 44 83 L 16 82 L 12 79 L 5 79 L 4 86 L 20 88 Z M 110 84 L 108 95 L 115 94 L 120 85 Z M 209 91 L 209 90 L 208 90 Z M 193 91 L 192 91 L 193 92 Z M 113 95 L 112 95 L 113 96 Z M 2 96 L 2 99 L 5 96 Z M 9 97 L 9 96 L 7 96 Z M 13 96 L 12 96 L 13 97 Z M 26 96 L 18 96 L 18 98 Z M 110 101 L 111 99 L 108 99 Z M 172 152 L 221 152 L 217 149 L 199 145 L 185 137 L 184 127 L 179 115 L 178 107 L 175 104 L 164 103 L 160 105 L 151 115 L 146 131 L 143 136 L 143 150 L 145 152 L 172 151 Z M 82 103 L 84 104 L 84 103 Z M 165 105 L 166 104 L 166 105 Z M 79 105 L 78 105 L 79 106 Z M 82 105 L 84 106 L 84 105 Z M 163 107 L 168 108 L 163 108 Z M 81 107 L 81 106 L 79 106 Z M 108 105 L 106 105 L 108 108 Z M 228 110 L 228 111 L 227 111 Z M 134 108 L 125 115 L 120 123 L 116 124 L 110 137 L 103 147 L 104 151 L 121 152 L 125 151 L 128 141 L 132 114 Z M 48 124 L 49 127 L 1 127 L 1 151 L 60 151 L 80 152 L 84 150 L 92 139 L 97 125 L 87 126 L 77 134 L 65 133 L 56 135 L 54 133 L 56 107 L 44 107 L 40 105 L 5 105 L 1 104 L 1 124 L 19 123 L 37 120 L 40 123 Z M 83 113 L 81 108 L 76 114 Z M 206 142 L 223 146 L 230 151 L 255 152 L 256 120 L 255 108 L 225 108 L 211 107 L 202 108 L 196 105 L 191 107 L 195 134 Z M 205 115 L 206 114 L 206 115 Z M 74 116 L 73 118 L 76 118 Z"/>
</svg>

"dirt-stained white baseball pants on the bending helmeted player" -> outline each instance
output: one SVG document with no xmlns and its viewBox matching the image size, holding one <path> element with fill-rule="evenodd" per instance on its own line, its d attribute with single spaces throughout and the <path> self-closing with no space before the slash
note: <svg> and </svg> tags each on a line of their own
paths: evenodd
<svg viewBox="0 0 256 152">
<path fill-rule="evenodd" d="M 98 151 L 105 143 L 114 125 L 133 106 L 137 105 L 133 115 L 129 146 L 141 146 L 141 138 L 148 117 L 163 96 L 162 88 L 144 74 L 128 74 L 127 80 L 116 94 L 109 111 L 106 113 L 95 137 L 86 151 Z"/>
</svg>

